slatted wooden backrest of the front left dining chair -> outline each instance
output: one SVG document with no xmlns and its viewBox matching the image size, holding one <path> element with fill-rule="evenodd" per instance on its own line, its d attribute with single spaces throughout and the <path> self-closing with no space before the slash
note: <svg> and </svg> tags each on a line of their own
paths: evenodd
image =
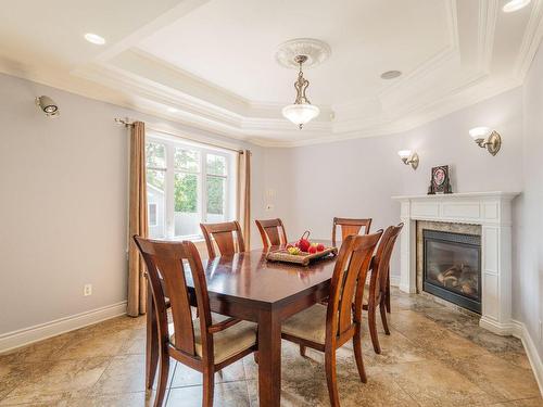
<svg viewBox="0 0 543 407">
<path fill-rule="evenodd" d="M 194 327 L 185 275 L 185 260 L 188 262 L 192 275 L 204 348 L 206 348 L 207 341 L 211 341 L 207 339 L 205 327 L 212 323 L 205 275 L 197 247 L 192 242 L 155 241 L 138 236 L 135 236 L 134 240 L 146 262 L 151 295 L 156 307 L 159 333 L 163 336 L 161 340 L 168 339 L 165 297 L 165 292 L 167 292 L 172 306 L 175 346 L 194 356 Z"/>
</svg>

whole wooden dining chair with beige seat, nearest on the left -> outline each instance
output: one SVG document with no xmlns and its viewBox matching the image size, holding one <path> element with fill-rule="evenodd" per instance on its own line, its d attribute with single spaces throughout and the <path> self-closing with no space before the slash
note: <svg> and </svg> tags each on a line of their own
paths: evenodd
<svg viewBox="0 0 543 407">
<path fill-rule="evenodd" d="M 156 317 L 160 368 L 154 406 L 164 402 L 172 357 L 203 373 L 202 406 L 211 407 L 215 372 L 257 349 L 256 325 L 211 313 L 205 274 L 192 242 L 138 236 L 134 240 L 146 262 Z M 193 290 L 187 285 L 185 260 L 190 266 Z M 169 327 L 165 290 L 172 306 Z M 198 307 L 198 318 L 192 318 L 191 304 Z"/>
</svg>

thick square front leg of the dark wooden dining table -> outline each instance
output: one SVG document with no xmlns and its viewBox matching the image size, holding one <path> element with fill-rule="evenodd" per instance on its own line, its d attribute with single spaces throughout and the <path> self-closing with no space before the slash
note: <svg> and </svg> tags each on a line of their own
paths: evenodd
<svg viewBox="0 0 543 407">
<path fill-rule="evenodd" d="M 264 407 L 281 403 L 281 321 L 272 310 L 258 316 L 258 397 Z"/>
</svg>

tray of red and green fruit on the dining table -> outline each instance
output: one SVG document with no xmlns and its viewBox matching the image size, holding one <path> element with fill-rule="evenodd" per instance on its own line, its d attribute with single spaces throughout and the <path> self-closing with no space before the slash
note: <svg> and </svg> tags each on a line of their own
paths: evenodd
<svg viewBox="0 0 543 407">
<path fill-rule="evenodd" d="M 337 254 L 337 247 L 325 247 L 323 243 L 312 243 L 310 241 L 310 231 L 306 230 L 295 244 L 289 243 L 285 249 L 269 252 L 266 259 L 307 266 L 312 260 Z"/>
</svg>

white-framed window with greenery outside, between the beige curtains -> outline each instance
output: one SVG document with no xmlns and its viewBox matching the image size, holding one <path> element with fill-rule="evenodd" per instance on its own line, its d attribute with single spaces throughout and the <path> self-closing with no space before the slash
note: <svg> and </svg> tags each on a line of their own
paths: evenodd
<svg viewBox="0 0 543 407">
<path fill-rule="evenodd" d="M 202 237 L 200 222 L 233 219 L 233 158 L 235 153 L 226 150 L 148 135 L 150 237 L 199 239 Z M 154 215 L 151 205 L 154 205 Z"/>
</svg>

